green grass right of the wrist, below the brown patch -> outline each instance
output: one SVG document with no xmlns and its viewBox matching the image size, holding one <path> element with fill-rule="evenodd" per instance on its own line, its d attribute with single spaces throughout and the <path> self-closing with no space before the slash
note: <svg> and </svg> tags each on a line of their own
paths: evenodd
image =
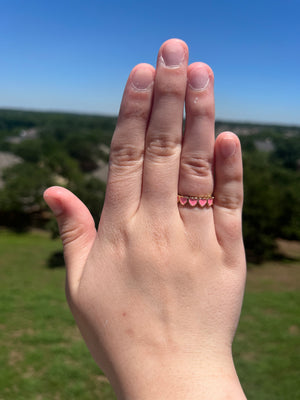
<svg viewBox="0 0 300 400">
<path fill-rule="evenodd" d="M 299 399 L 299 292 L 250 292 L 234 343 L 247 398 Z"/>
</svg>

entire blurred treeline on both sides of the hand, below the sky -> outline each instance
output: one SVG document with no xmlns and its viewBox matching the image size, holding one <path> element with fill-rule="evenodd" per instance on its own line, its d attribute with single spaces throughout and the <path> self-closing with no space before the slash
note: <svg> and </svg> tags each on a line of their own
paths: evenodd
<svg viewBox="0 0 300 400">
<path fill-rule="evenodd" d="M 73 191 L 99 220 L 116 118 L 0 110 L 0 225 L 38 226 L 57 234 L 42 194 L 51 185 Z M 300 240 L 300 128 L 218 121 L 243 148 L 243 231 L 250 261 L 277 256 L 276 240 Z M 14 155 L 1 168 L 1 157 Z M 4 163 L 5 164 L 5 163 Z"/>
</svg>

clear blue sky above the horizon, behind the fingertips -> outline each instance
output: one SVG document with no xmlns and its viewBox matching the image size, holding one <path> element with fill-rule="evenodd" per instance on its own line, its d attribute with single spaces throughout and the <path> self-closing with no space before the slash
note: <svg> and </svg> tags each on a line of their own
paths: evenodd
<svg viewBox="0 0 300 400">
<path fill-rule="evenodd" d="M 298 0 L 0 0 L 0 108 L 117 114 L 172 37 L 213 68 L 217 118 L 300 125 Z"/>
</svg>

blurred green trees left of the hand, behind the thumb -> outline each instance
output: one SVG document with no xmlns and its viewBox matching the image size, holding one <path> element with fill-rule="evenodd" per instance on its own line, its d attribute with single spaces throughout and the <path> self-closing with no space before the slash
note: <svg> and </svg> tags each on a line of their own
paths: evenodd
<svg viewBox="0 0 300 400">
<path fill-rule="evenodd" d="M 110 143 L 115 122 L 109 117 L 0 110 L 1 149 L 24 160 L 3 172 L 1 224 L 14 229 L 38 224 L 56 236 L 53 219 L 44 217 L 42 198 L 51 185 L 78 195 L 98 223 L 105 183 L 89 173 L 99 160 L 107 161 L 101 145 Z"/>
</svg>

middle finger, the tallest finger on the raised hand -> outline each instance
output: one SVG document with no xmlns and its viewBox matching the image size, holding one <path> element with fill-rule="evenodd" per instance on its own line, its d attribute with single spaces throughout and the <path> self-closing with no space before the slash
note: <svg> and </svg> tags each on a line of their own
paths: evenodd
<svg viewBox="0 0 300 400">
<path fill-rule="evenodd" d="M 146 135 L 142 194 L 155 210 L 177 207 L 187 62 L 188 48 L 181 40 L 168 40 L 160 48 Z"/>
</svg>

